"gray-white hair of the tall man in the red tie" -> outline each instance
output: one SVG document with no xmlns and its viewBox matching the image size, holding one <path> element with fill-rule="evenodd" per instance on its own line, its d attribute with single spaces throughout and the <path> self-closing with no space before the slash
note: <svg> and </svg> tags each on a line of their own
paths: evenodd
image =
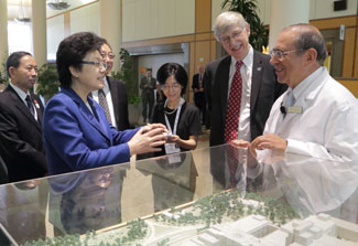
<svg viewBox="0 0 358 246">
<path fill-rule="evenodd" d="M 220 13 L 214 22 L 214 35 L 218 42 L 220 42 L 220 35 L 227 32 L 232 26 L 246 28 L 247 22 L 239 12 L 226 11 Z"/>
</svg>

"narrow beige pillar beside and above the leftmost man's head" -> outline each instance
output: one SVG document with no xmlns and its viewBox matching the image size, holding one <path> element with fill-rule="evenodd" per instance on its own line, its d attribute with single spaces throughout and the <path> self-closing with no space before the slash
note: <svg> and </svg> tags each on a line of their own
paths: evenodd
<svg viewBox="0 0 358 246">
<path fill-rule="evenodd" d="M 47 61 L 46 0 L 32 0 L 33 56 L 41 67 Z"/>
</svg>

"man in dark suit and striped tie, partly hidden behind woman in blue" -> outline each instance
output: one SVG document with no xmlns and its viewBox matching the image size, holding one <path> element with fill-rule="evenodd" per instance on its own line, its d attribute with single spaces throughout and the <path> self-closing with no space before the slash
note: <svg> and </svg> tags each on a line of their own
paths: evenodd
<svg viewBox="0 0 358 246">
<path fill-rule="evenodd" d="M 123 82 L 109 76 L 113 67 L 115 54 L 107 40 L 104 39 L 102 42 L 100 54 L 107 63 L 105 87 L 102 92 L 93 92 L 93 97 L 105 109 L 108 121 L 117 130 L 122 131 L 130 128 L 126 85 Z M 102 95 L 100 95 L 101 93 Z M 104 100 L 100 99 L 101 96 Z"/>
</svg>

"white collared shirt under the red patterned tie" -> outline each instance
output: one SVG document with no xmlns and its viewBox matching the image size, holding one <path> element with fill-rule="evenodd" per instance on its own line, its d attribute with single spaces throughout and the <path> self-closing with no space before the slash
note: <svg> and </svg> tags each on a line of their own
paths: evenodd
<svg viewBox="0 0 358 246">
<path fill-rule="evenodd" d="M 242 60 L 243 65 L 240 68 L 242 77 L 242 94 L 240 105 L 240 119 L 239 119 L 239 132 L 238 139 L 251 141 L 250 130 L 250 95 L 251 95 L 251 82 L 252 82 L 252 65 L 253 65 L 253 49 L 250 46 L 249 53 Z M 227 101 L 229 101 L 230 87 L 234 75 L 236 73 L 237 60 L 231 56 L 230 74 L 229 74 L 229 86 Z"/>
</svg>

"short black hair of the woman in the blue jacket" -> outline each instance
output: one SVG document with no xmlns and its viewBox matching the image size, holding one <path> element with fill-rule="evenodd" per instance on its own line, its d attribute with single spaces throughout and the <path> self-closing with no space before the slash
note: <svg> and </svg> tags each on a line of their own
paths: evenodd
<svg viewBox="0 0 358 246">
<path fill-rule="evenodd" d="M 99 51 L 101 38 L 91 32 L 78 32 L 64 39 L 56 53 L 56 66 L 61 87 L 69 87 L 72 74 L 69 66 L 82 69 L 82 61 L 87 53 Z"/>
</svg>

